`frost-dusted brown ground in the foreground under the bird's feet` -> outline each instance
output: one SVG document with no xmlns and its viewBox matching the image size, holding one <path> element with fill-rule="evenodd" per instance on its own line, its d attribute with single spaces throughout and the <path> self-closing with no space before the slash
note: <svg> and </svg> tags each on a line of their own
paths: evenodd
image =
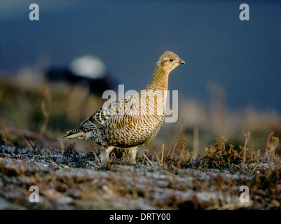
<svg viewBox="0 0 281 224">
<path fill-rule="evenodd" d="M 217 144 L 216 154 L 220 154 Z M 226 165 L 207 155 L 180 161 L 146 152 L 135 165 L 74 146 L 32 150 L 0 146 L 0 209 L 280 209 L 279 162 Z M 210 147 L 209 149 L 212 149 Z M 230 149 L 225 151 L 231 151 Z M 208 157 L 207 157 L 208 156 Z M 210 162 L 212 160 L 212 162 Z M 232 162 L 232 161 L 231 161 Z M 39 202 L 30 202 L 39 189 Z M 249 188 L 249 202 L 240 202 Z M 246 197 L 243 197 L 246 198 Z"/>
</svg>

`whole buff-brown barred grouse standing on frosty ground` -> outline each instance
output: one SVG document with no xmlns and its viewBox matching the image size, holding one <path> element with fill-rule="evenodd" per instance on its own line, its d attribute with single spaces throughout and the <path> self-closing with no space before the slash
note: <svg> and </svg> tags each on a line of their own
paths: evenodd
<svg viewBox="0 0 281 224">
<path fill-rule="evenodd" d="M 163 124 L 168 77 L 180 64 L 185 62 L 174 52 L 164 52 L 144 89 L 102 106 L 62 138 L 90 139 L 104 146 L 102 164 L 114 148 L 128 149 L 128 162 L 134 164 L 137 149 L 154 139 Z"/>
</svg>

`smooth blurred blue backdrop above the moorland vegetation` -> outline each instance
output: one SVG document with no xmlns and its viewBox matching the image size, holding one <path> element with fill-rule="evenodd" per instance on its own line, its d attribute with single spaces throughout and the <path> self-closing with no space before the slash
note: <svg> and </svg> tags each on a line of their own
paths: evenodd
<svg viewBox="0 0 281 224">
<path fill-rule="evenodd" d="M 280 1 L 0 1 L 0 69 L 11 75 L 92 54 L 125 90 L 141 90 L 166 50 L 186 62 L 169 80 L 182 98 L 208 104 L 216 83 L 230 109 L 281 113 Z"/>
</svg>

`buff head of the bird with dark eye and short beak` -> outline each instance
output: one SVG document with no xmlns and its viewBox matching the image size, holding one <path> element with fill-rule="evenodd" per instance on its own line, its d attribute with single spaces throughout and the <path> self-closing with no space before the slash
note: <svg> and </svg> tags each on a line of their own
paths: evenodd
<svg viewBox="0 0 281 224">
<path fill-rule="evenodd" d="M 182 59 L 176 54 L 170 51 L 166 51 L 158 60 L 158 68 L 163 69 L 166 73 L 170 73 L 174 68 L 179 66 L 179 64 L 185 64 Z"/>
</svg>

